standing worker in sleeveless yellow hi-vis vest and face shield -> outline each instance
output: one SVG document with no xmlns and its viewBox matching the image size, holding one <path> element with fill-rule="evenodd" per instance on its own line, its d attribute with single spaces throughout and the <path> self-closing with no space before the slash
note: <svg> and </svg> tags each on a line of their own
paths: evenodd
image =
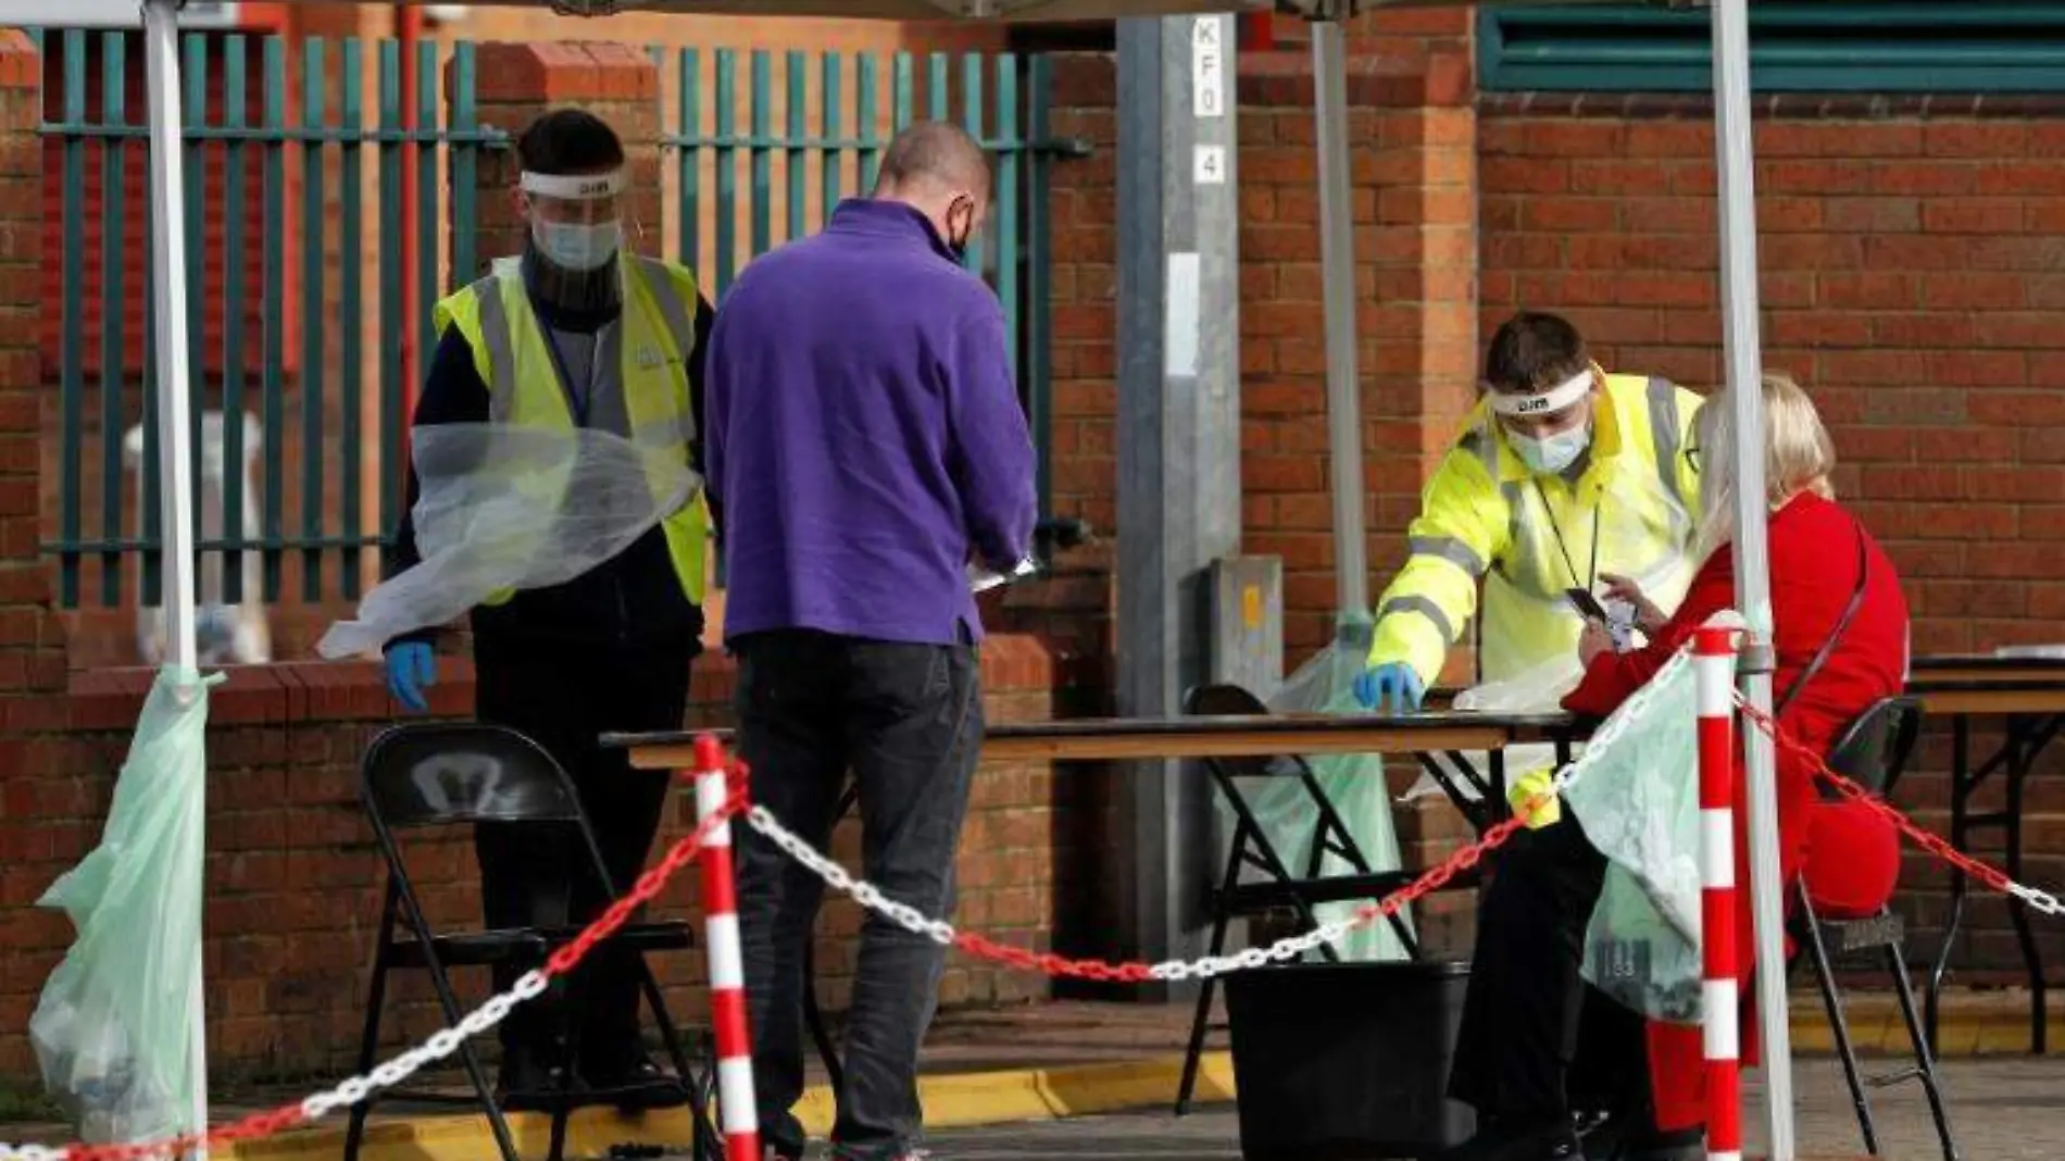
<svg viewBox="0 0 2065 1161">
<path fill-rule="evenodd" d="M 648 481 L 661 496 L 679 485 L 684 463 L 692 473 L 702 469 L 702 347 L 712 310 L 690 271 L 622 252 L 624 145 L 605 122 L 578 109 L 549 112 L 522 132 L 516 155 L 525 250 L 438 302 L 438 349 L 415 426 L 607 432 L 659 465 Z M 553 508 L 582 500 L 568 496 L 578 477 L 564 469 L 510 473 L 506 485 Z M 481 492 L 498 488 L 502 481 L 483 481 Z M 411 469 L 411 506 L 417 492 Z M 667 779 L 632 771 L 622 752 L 605 752 L 597 740 L 681 727 L 688 669 L 700 653 L 710 525 L 696 488 L 615 558 L 560 585 L 491 593 L 471 614 L 477 717 L 531 735 L 568 771 L 620 890 L 646 861 Z M 415 527 L 405 516 L 386 572 L 417 562 Z M 432 636 L 399 636 L 384 653 L 394 698 L 427 709 Z M 589 853 L 578 837 L 562 839 L 535 826 L 477 826 L 489 928 L 580 925 L 601 913 L 609 899 L 589 874 Z M 498 967 L 496 987 L 510 987 L 520 967 L 531 965 Z M 615 1105 L 684 1101 L 681 1085 L 640 1047 L 636 956 L 603 948 L 582 971 L 576 1091 Z M 549 996 L 500 1025 L 498 1091 L 508 1107 L 539 1107 L 549 1097 L 566 1027 Z"/>
</svg>

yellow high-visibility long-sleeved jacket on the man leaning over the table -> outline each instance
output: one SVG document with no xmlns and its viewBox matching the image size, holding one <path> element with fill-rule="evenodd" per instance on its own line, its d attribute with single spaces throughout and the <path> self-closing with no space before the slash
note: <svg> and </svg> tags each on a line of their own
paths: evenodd
<svg viewBox="0 0 2065 1161">
<path fill-rule="evenodd" d="M 1576 665 L 1584 620 L 1565 591 L 1596 591 L 1598 572 L 1673 607 L 1697 564 L 1699 475 L 1685 448 L 1702 403 L 1662 378 L 1609 374 L 1592 446 L 1567 471 L 1536 475 L 1479 401 L 1423 492 L 1412 556 L 1377 599 L 1369 663 L 1402 661 L 1431 686 L 1476 616 L 1479 585 L 1479 682 Z"/>
</svg>

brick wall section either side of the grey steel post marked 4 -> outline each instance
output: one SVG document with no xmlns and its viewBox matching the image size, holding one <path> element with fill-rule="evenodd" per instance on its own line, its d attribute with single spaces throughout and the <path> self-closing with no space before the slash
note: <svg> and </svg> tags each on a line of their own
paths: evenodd
<svg viewBox="0 0 2065 1161">
<path fill-rule="evenodd" d="M 1090 140 L 1097 155 L 1055 169 L 1053 504 L 1111 531 L 1113 62 L 1076 56 L 1055 76 L 1055 132 Z M 1239 89 L 1243 545 L 1282 556 L 1284 647 L 1303 657 L 1330 638 L 1334 618 L 1311 64 L 1297 52 L 1243 56 Z M 1460 413 L 1474 382 L 1474 114 L 1466 99 L 1460 58 L 1353 58 L 1348 149 L 1375 572 L 1400 562 L 1396 533 L 1439 450 L 1441 417 Z M 1074 618 L 1103 597 L 1086 585 L 1070 599 Z M 1053 632 L 1088 645 L 1076 636 L 1080 624 Z"/>
</svg>

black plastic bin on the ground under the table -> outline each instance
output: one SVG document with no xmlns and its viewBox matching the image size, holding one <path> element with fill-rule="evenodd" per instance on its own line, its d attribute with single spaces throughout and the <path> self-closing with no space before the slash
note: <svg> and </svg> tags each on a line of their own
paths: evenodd
<svg viewBox="0 0 2065 1161">
<path fill-rule="evenodd" d="M 1474 1132 L 1448 1099 L 1468 963 L 1295 963 L 1225 983 L 1245 1161 L 1425 1159 Z"/>
</svg>

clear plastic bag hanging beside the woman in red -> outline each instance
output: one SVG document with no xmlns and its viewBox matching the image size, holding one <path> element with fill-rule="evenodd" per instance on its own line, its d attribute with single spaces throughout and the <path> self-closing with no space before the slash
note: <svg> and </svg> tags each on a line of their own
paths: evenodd
<svg viewBox="0 0 2065 1161">
<path fill-rule="evenodd" d="M 1697 684 L 1691 665 L 1669 665 L 1654 682 L 1644 717 L 1594 754 L 1563 804 L 1609 859 L 1584 977 L 1650 1018 L 1691 1025 L 1702 983 Z"/>
</svg>

